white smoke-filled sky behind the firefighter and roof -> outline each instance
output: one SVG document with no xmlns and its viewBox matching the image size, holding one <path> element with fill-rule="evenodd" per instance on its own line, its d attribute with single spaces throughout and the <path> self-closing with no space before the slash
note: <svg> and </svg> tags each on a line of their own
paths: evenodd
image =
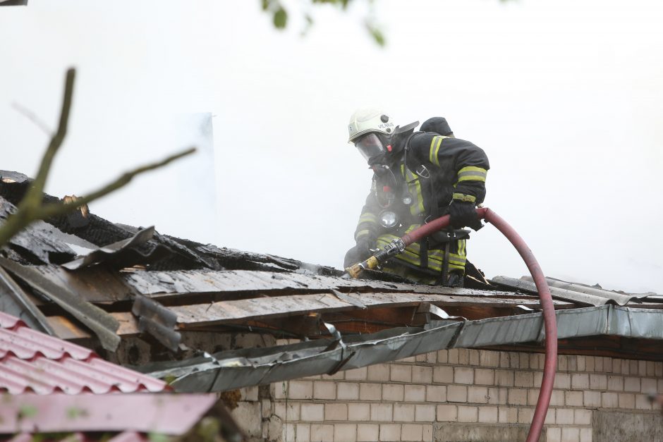
<svg viewBox="0 0 663 442">
<path fill-rule="evenodd" d="M 365 3 L 284 1 L 285 32 L 258 0 L 0 7 L 0 168 L 34 175 L 48 137 L 13 104 L 54 127 L 75 66 L 49 193 L 82 195 L 195 143 L 202 153 L 91 210 L 340 268 L 371 177 L 346 143 L 351 113 L 445 116 L 487 152 L 486 205 L 548 276 L 663 293 L 659 1 L 377 0 L 384 49 L 363 29 Z M 306 11 L 315 25 L 301 37 Z M 487 276 L 527 273 L 495 228 L 472 236 L 468 258 Z"/>
</svg>

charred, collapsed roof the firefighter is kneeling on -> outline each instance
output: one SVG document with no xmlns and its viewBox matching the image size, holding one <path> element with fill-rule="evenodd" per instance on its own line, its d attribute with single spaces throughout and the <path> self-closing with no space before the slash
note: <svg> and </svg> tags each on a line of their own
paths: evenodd
<svg viewBox="0 0 663 442">
<path fill-rule="evenodd" d="M 6 218 L 30 179 L 4 171 L 0 177 L 0 218 Z M 311 338 L 303 357 L 329 357 L 320 370 L 430 351 L 425 344 L 430 333 L 440 333 L 430 341 L 435 350 L 542 350 L 540 303 L 528 278 L 485 281 L 475 272 L 466 288 L 445 288 L 380 272 L 367 272 L 360 280 L 341 278 L 342 273 L 295 259 L 203 245 L 153 227 L 111 223 L 78 211 L 35 223 L 11 240 L 0 257 L 0 310 L 52 336 L 92 338 L 109 351 L 122 338 L 150 335 L 177 352 L 183 331 Z M 558 314 L 560 352 L 663 360 L 657 350 L 663 339 L 660 295 L 548 281 Z M 393 347 L 396 342 L 403 350 L 379 351 L 381 343 Z M 185 376 L 184 367 L 234 364 L 257 373 L 257 367 L 267 364 L 276 373 L 274 361 L 284 367 L 292 361 L 294 366 L 298 357 L 291 352 L 303 354 L 298 347 L 265 351 L 215 354 L 178 363 L 178 369 Z M 348 354 L 353 356 L 348 359 Z M 252 379 L 259 378 L 274 380 L 257 374 Z"/>
</svg>

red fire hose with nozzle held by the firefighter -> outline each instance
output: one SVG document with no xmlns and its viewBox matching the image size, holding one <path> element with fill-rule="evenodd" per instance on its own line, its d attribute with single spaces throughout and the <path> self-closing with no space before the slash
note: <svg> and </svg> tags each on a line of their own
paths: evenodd
<svg viewBox="0 0 663 442">
<path fill-rule="evenodd" d="M 516 247 L 516 250 L 521 254 L 523 261 L 525 261 L 527 268 L 530 270 L 530 274 L 534 279 L 534 283 L 536 284 L 539 293 L 541 308 L 543 309 L 543 324 L 546 332 L 546 354 L 539 399 L 537 400 L 534 417 L 532 418 L 530 431 L 527 435 L 527 442 L 535 442 L 539 440 L 548 406 L 550 405 L 550 395 L 552 395 L 552 386 L 557 368 L 557 323 L 555 309 L 552 305 L 552 297 L 550 296 L 550 289 L 548 288 L 548 283 L 546 282 L 546 278 L 539 263 L 534 257 L 534 254 L 532 254 L 530 247 L 528 247 L 523 238 L 521 238 L 521 235 L 518 235 L 518 233 L 509 226 L 509 223 L 506 223 L 504 219 L 501 219 L 499 215 L 487 207 L 477 209 L 477 215 L 479 218 L 485 219 L 487 223 L 491 223 L 493 226 L 497 227 L 497 230 L 506 236 L 511 244 L 513 244 L 513 247 Z M 382 264 L 387 259 L 402 252 L 408 245 L 416 243 L 422 238 L 426 238 L 446 226 L 449 226 L 449 215 L 441 216 L 438 219 L 430 221 L 430 223 L 424 224 L 420 228 L 416 228 L 410 233 L 406 233 L 402 238 L 395 240 L 393 243 L 385 247 L 384 250 L 380 250 L 365 262 L 351 266 L 346 269 L 346 271 L 348 271 L 353 278 L 356 278 L 362 270 L 375 269 L 379 264 Z"/>
</svg>

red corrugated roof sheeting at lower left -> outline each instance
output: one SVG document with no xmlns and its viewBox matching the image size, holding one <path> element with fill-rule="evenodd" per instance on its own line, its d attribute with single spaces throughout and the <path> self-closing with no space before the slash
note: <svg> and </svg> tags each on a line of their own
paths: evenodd
<svg viewBox="0 0 663 442">
<path fill-rule="evenodd" d="M 29 329 L 0 312 L 0 391 L 99 394 L 166 389 L 164 381 L 106 362 L 92 350 Z"/>
</svg>

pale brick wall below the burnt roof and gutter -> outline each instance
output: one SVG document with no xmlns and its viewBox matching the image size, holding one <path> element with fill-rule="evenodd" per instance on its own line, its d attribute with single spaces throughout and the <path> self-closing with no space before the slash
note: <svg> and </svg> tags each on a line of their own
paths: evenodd
<svg viewBox="0 0 663 442">
<path fill-rule="evenodd" d="M 275 383 L 262 398 L 249 389 L 244 400 L 257 403 L 233 415 L 255 440 L 444 441 L 450 428 L 476 440 L 472 431 L 528 428 L 542 367 L 539 354 L 442 350 Z M 647 393 L 663 393 L 662 362 L 559 356 L 558 370 L 542 440 L 592 441 L 595 410 L 657 413 Z"/>
</svg>

